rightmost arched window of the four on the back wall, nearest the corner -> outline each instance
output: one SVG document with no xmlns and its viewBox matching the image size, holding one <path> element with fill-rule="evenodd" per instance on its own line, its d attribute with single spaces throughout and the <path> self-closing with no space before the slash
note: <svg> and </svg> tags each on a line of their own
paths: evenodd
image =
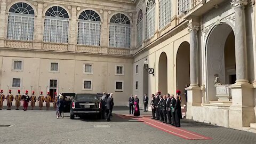
<svg viewBox="0 0 256 144">
<path fill-rule="evenodd" d="M 131 22 L 126 15 L 117 13 L 110 19 L 109 46 L 130 48 Z"/>
</svg>

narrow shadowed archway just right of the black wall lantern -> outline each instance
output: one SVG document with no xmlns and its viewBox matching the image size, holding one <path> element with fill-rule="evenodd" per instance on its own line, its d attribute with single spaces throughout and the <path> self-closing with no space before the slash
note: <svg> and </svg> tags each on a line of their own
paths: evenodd
<svg viewBox="0 0 256 144">
<path fill-rule="evenodd" d="M 158 90 L 162 94 L 167 93 L 167 56 L 165 52 L 162 52 L 159 57 L 158 64 Z"/>
</svg>

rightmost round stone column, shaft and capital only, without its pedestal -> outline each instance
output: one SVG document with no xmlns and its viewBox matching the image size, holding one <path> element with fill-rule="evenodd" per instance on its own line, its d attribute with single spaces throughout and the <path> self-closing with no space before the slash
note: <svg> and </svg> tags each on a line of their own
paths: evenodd
<svg viewBox="0 0 256 144">
<path fill-rule="evenodd" d="M 232 0 L 235 9 L 236 83 L 248 83 L 244 6 L 247 0 Z"/>
</svg>

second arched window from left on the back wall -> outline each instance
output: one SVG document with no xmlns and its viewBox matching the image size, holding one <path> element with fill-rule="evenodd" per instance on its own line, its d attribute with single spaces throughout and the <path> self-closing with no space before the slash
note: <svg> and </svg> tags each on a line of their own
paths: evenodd
<svg viewBox="0 0 256 144">
<path fill-rule="evenodd" d="M 68 18 L 62 7 L 50 7 L 45 13 L 44 42 L 68 43 Z"/>
</svg>

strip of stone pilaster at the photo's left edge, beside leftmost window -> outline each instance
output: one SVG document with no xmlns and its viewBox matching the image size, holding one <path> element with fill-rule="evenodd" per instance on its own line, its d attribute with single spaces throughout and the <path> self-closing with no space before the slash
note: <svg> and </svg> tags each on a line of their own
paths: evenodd
<svg viewBox="0 0 256 144">
<path fill-rule="evenodd" d="M 6 31 L 6 0 L 1 1 L 0 8 L 0 47 L 4 47 L 5 31 Z"/>
</svg>

